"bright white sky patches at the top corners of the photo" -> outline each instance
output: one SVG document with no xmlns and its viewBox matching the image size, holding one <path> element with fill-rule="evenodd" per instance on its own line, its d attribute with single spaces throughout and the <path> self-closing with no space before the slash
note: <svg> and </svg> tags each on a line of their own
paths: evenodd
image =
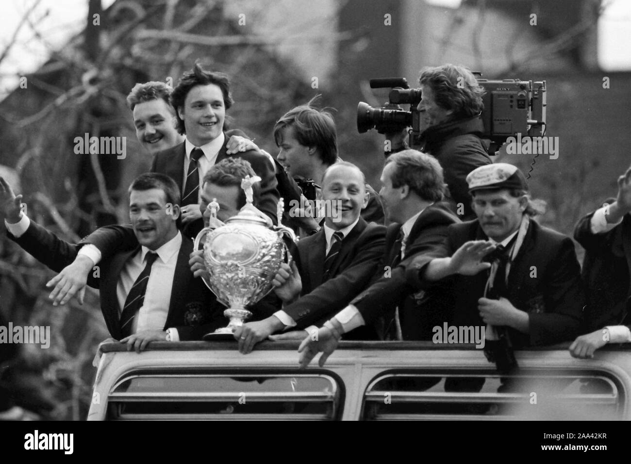
<svg viewBox="0 0 631 464">
<path fill-rule="evenodd" d="M 428 3 L 457 6 L 461 0 L 427 0 Z M 550 0 L 553 1 L 553 0 Z M 611 1 L 599 22 L 598 59 L 604 71 L 631 71 L 631 0 Z M 0 16 L 0 51 L 11 37 L 34 0 L 3 0 Z M 106 8 L 114 0 L 102 0 Z M 87 0 L 42 0 L 34 10 L 35 25 L 44 40 L 58 49 L 85 24 Z M 15 88 L 18 78 L 38 68 L 48 57 L 48 47 L 23 25 L 8 56 L 0 63 L 0 98 Z"/>
</svg>

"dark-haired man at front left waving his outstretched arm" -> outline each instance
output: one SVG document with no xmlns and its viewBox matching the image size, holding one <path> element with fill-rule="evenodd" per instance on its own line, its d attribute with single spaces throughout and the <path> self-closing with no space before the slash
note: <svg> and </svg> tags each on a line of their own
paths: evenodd
<svg viewBox="0 0 631 464">
<path fill-rule="evenodd" d="M 103 259 L 95 270 L 93 261 L 79 253 L 80 246 L 62 241 L 21 213 L 21 196 L 15 197 L 0 178 L 9 238 L 54 271 L 76 258 L 88 285 L 100 290 L 110 335 L 138 352 L 151 341 L 201 338 L 216 326 L 210 293 L 189 269 L 192 242 L 177 228 L 179 200 L 179 189 L 166 175 L 137 177 L 129 187 L 129 218 L 138 246 Z"/>
</svg>

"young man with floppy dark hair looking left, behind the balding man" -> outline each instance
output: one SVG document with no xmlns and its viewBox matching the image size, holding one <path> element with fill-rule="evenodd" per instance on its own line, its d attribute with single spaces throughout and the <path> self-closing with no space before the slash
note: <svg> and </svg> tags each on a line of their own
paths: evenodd
<svg viewBox="0 0 631 464">
<path fill-rule="evenodd" d="M 274 140 L 280 148 L 276 157 L 278 162 L 285 166 L 290 177 L 299 179 L 298 185 L 305 197 L 316 201 L 322 198 L 320 185 L 324 172 L 338 162 L 339 157 L 333 116 L 325 110 L 315 109 L 312 102 L 286 112 L 274 125 Z M 384 208 L 379 196 L 369 184 L 365 188 L 369 199 L 362 210 L 362 218 L 366 222 L 383 224 Z M 322 222 L 320 213 L 314 211 L 316 219 Z"/>
</svg>

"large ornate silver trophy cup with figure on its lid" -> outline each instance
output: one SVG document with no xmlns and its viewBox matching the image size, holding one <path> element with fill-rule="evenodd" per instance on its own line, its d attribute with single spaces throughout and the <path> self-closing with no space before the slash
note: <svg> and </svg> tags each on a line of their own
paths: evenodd
<svg viewBox="0 0 631 464">
<path fill-rule="evenodd" d="M 252 184 L 260 177 L 245 177 L 241 183 L 246 203 L 239 214 L 225 224 L 216 218 L 219 205 L 213 199 L 208 205 L 210 227 L 204 227 L 195 237 L 194 249 L 204 246 L 204 266 L 208 278 L 206 286 L 218 302 L 227 306 L 223 315 L 230 319 L 228 326 L 204 335 L 204 340 L 232 338 L 235 328 L 252 316 L 247 309 L 273 289 L 272 280 L 281 263 L 291 262 L 283 237 L 293 242 L 296 235 L 288 227 L 273 226 L 271 220 L 252 205 Z M 278 204 L 278 224 L 283 215 L 283 199 Z"/>
</svg>

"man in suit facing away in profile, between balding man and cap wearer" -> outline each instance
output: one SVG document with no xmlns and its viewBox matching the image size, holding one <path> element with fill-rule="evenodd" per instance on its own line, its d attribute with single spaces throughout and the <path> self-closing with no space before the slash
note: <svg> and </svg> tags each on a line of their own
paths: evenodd
<svg viewBox="0 0 631 464">
<path fill-rule="evenodd" d="M 403 340 L 431 340 L 434 326 L 451 321 L 451 294 L 442 289 L 416 293 L 407 283 L 406 269 L 415 256 L 439 250 L 447 227 L 460 221 L 439 203 L 444 181 L 435 158 L 416 150 L 395 153 L 387 158 L 380 180 L 379 195 L 393 222 L 384 259 L 372 285 L 333 319 L 339 333 L 346 333 L 379 317 L 391 321 L 398 306 Z M 318 333 L 322 342 L 327 338 L 337 343 L 332 331 Z"/>
</svg>

